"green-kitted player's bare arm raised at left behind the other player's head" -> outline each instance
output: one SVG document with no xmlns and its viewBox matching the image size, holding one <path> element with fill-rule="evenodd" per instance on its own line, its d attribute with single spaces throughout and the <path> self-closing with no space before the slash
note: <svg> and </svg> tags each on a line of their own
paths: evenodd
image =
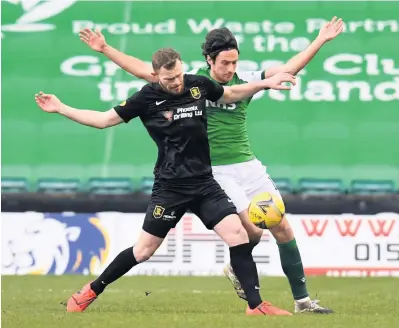
<svg viewBox="0 0 399 328">
<path fill-rule="evenodd" d="M 148 82 L 155 82 L 154 76 L 152 75 L 153 70 L 150 65 L 138 58 L 128 56 L 114 47 L 111 47 L 105 41 L 105 37 L 100 30 L 97 29 L 93 32 L 89 28 L 85 28 L 79 32 L 79 37 L 91 49 L 103 53 L 107 58 L 112 60 L 126 72 L 139 79 Z"/>
</svg>

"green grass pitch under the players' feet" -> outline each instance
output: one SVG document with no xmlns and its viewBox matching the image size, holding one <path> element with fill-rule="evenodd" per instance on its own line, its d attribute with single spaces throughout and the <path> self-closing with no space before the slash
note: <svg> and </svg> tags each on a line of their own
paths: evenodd
<svg viewBox="0 0 399 328">
<path fill-rule="evenodd" d="M 311 296 L 332 315 L 246 317 L 244 301 L 224 277 L 124 277 L 84 313 L 60 303 L 89 281 L 85 276 L 3 276 L 2 326 L 71 327 L 399 327 L 399 279 L 309 278 Z M 264 300 L 293 311 L 285 278 L 261 279 Z M 151 292 L 146 296 L 146 292 Z"/>
</svg>

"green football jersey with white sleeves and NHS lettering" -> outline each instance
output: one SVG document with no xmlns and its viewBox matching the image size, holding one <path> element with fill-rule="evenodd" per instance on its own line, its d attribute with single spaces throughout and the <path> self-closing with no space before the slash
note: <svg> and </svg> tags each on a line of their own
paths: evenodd
<svg viewBox="0 0 399 328">
<path fill-rule="evenodd" d="M 208 67 L 192 70 L 189 74 L 211 78 Z M 264 79 L 264 73 L 236 72 L 233 78 L 223 85 L 231 86 Z M 216 82 L 216 81 L 215 81 Z M 233 104 L 218 104 L 207 100 L 208 138 L 212 165 L 226 165 L 247 162 L 255 158 L 251 151 L 247 132 L 247 107 L 251 98 Z"/>
</svg>

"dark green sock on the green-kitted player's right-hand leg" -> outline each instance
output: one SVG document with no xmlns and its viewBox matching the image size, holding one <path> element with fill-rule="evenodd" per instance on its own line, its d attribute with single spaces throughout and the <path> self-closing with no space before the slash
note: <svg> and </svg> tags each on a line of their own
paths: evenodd
<svg viewBox="0 0 399 328">
<path fill-rule="evenodd" d="M 284 244 L 277 243 L 277 246 L 280 251 L 281 267 L 288 278 L 294 299 L 299 300 L 309 296 L 301 254 L 296 245 L 296 240 L 293 239 Z"/>
</svg>

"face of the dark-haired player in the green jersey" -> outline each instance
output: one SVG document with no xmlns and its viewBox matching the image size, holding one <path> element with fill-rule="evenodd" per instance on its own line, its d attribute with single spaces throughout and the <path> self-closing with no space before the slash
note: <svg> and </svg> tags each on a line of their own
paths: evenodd
<svg viewBox="0 0 399 328">
<path fill-rule="evenodd" d="M 220 82 L 229 82 L 236 72 L 238 62 L 238 51 L 235 49 L 225 50 L 219 53 L 215 62 L 211 59 L 208 63 L 211 65 L 212 77 Z"/>
</svg>

